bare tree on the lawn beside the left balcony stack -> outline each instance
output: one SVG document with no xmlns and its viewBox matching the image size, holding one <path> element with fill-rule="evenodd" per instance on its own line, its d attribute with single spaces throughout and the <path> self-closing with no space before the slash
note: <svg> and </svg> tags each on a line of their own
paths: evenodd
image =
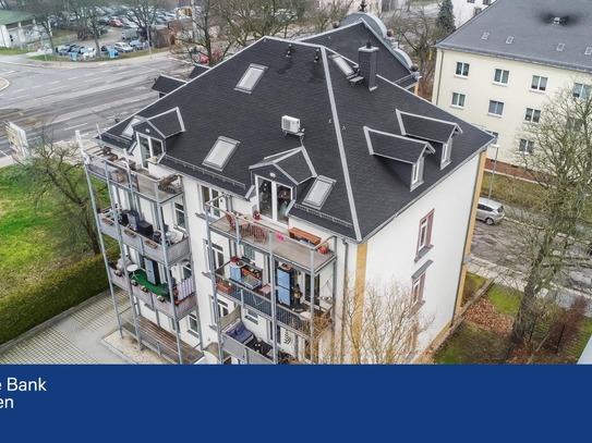
<svg viewBox="0 0 592 443">
<path fill-rule="evenodd" d="M 31 157 L 19 161 L 19 167 L 29 179 L 36 201 L 41 201 L 46 195 L 61 200 L 56 209 L 63 216 L 63 229 L 68 233 L 64 238 L 82 242 L 98 255 L 100 245 L 94 216 L 97 208 L 93 207 L 88 194 L 78 148 L 55 144 L 47 125 L 40 128 L 39 134 L 38 139 L 29 145 Z M 99 202 L 106 200 L 100 192 L 96 197 Z"/>
</svg>

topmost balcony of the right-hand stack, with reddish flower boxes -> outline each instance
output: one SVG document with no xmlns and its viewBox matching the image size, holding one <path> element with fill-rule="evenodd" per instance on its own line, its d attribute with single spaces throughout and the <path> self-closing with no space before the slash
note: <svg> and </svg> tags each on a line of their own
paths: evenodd
<svg viewBox="0 0 592 443">
<path fill-rule="evenodd" d="M 322 241 L 317 246 L 312 246 L 290 238 L 286 232 L 264 225 L 250 216 L 237 216 L 221 210 L 217 212 L 221 216 L 208 216 L 210 229 L 214 232 L 239 243 L 249 244 L 262 251 L 270 250 L 282 261 L 316 271 L 335 260 L 335 236 Z"/>
</svg>

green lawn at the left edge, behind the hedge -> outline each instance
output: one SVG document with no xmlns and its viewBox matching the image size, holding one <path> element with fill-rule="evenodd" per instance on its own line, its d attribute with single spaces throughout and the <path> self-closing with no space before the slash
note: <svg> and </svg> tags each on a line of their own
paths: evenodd
<svg viewBox="0 0 592 443">
<path fill-rule="evenodd" d="M 14 167 L 0 169 L 0 297 L 82 258 L 76 245 L 64 248 L 63 214 L 57 200 L 36 206 Z"/>
</svg>

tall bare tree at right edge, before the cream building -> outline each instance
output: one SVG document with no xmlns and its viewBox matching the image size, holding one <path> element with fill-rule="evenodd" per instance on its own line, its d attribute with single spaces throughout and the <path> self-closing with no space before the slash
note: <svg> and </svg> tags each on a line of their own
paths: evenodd
<svg viewBox="0 0 592 443">
<path fill-rule="evenodd" d="M 576 79 L 548 98 L 539 113 L 528 110 L 518 135 L 519 159 L 543 194 L 536 218 L 520 232 L 519 261 L 524 274 L 523 298 L 512 329 L 512 343 L 521 344 L 540 316 L 541 299 L 556 292 L 573 268 L 589 266 L 582 229 L 591 210 L 592 192 L 592 78 Z M 585 249 L 583 249 L 585 250 Z"/>
</svg>

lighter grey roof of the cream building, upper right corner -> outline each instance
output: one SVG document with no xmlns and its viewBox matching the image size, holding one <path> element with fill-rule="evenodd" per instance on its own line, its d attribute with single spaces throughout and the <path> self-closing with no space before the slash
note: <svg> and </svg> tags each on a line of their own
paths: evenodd
<svg viewBox="0 0 592 443">
<path fill-rule="evenodd" d="M 497 0 L 436 47 L 592 72 L 592 1 Z"/>
</svg>

